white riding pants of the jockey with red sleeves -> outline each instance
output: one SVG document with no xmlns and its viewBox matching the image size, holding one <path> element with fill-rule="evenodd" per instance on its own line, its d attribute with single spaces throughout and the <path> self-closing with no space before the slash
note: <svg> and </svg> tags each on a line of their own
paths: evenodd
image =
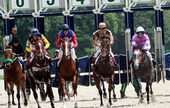
<svg viewBox="0 0 170 108">
<path fill-rule="evenodd" d="M 58 63 L 57 63 L 57 66 L 59 66 L 60 62 L 61 62 L 61 59 L 63 57 L 63 50 L 62 48 L 60 48 L 59 50 L 59 53 L 58 53 Z M 76 56 L 76 52 L 75 52 L 75 49 L 74 48 L 71 48 L 71 58 L 75 61 L 77 59 L 77 56 Z"/>
</svg>

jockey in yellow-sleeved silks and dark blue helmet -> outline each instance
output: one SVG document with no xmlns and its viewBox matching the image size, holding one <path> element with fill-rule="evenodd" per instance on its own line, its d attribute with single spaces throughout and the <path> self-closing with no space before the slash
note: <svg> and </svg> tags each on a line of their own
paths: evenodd
<svg viewBox="0 0 170 108">
<path fill-rule="evenodd" d="M 48 53 L 47 53 L 47 49 L 50 46 L 49 41 L 47 40 L 47 38 L 43 34 L 41 34 L 39 32 L 39 30 L 37 28 L 33 28 L 31 30 L 29 39 L 26 42 L 26 49 L 25 49 L 26 52 L 30 54 L 30 56 L 29 56 L 30 57 L 30 61 L 29 62 L 31 62 L 32 59 L 34 58 L 34 53 L 33 52 L 36 50 L 34 45 L 35 45 L 35 42 L 37 40 L 42 40 L 43 41 L 46 57 L 49 59 L 49 56 L 48 56 Z"/>
</svg>

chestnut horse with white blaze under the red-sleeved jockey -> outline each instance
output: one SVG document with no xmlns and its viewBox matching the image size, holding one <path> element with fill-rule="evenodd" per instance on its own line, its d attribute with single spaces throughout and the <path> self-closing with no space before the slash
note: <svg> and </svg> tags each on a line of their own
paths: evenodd
<svg viewBox="0 0 170 108">
<path fill-rule="evenodd" d="M 78 72 L 76 69 L 76 62 L 71 57 L 71 42 L 68 37 L 64 37 L 62 40 L 62 51 L 63 56 L 59 64 L 59 99 L 66 100 L 77 96 L 77 85 L 78 85 Z M 69 94 L 67 82 L 72 82 L 73 94 Z M 76 104 L 76 103 L 75 103 Z"/>
</svg>

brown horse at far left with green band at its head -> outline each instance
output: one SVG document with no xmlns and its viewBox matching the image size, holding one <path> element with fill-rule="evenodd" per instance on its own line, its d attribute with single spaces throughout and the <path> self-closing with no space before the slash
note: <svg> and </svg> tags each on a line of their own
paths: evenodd
<svg viewBox="0 0 170 108">
<path fill-rule="evenodd" d="M 5 68 L 4 68 L 4 82 L 5 82 L 5 90 L 8 93 L 8 107 L 11 106 L 11 102 L 10 102 L 11 93 L 12 93 L 12 104 L 15 105 L 14 85 L 16 85 L 18 108 L 21 108 L 20 90 L 22 90 L 24 95 L 24 105 L 27 105 L 27 98 L 25 93 L 25 82 L 26 82 L 25 73 L 23 72 L 23 67 L 19 59 L 13 55 L 12 49 L 5 49 L 4 53 L 5 53 L 4 54 L 5 58 L 11 59 L 12 61 L 9 63 L 5 63 Z"/>
</svg>

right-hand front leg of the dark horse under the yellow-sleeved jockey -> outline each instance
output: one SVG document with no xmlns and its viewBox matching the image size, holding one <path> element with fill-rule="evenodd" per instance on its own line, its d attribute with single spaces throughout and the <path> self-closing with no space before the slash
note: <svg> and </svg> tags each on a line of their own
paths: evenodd
<svg viewBox="0 0 170 108">
<path fill-rule="evenodd" d="M 50 80 L 46 83 L 46 85 L 47 85 L 47 95 L 48 95 L 48 97 L 50 99 L 51 107 L 55 108 L 54 107 L 54 102 L 53 102 L 54 101 L 54 95 L 53 95 Z"/>
</svg>

